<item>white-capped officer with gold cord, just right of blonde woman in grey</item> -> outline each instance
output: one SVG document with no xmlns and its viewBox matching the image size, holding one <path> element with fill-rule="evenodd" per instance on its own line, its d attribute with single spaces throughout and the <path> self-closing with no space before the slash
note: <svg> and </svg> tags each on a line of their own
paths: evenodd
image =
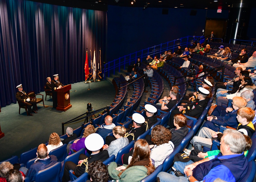
<svg viewBox="0 0 256 182">
<path fill-rule="evenodd" d="M 132 120 L 133 120 L 133 127 L 130 129 L 126 128 L 126 133 L 124 135 L 124 138 L 127 137 L 129 142 L 132 140 L 137 140 L 137 138 L 142 135 L 146 131 L 146 127 L 143 126 L 145 123 L 145 118 L 139 114 L 139 113 L 134 113 L 132 115 Z M 106 145 L 109 145 L 111 141 L 114 141 L 116 138 L 113 136 L 107 136 L 106 137 Z"/>
</svg>

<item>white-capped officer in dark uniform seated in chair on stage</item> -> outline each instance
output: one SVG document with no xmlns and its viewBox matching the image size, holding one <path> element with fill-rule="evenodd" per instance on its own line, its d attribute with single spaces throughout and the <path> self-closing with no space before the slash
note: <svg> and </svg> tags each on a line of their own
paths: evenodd
<svg viewBox="0 0 256 182">
<path fill-rule="evenodd" d="M 19 92 L 16 93 L 16 99 L 20 102 L 20 105 L 25 106 L 25 103 L 27 103 L 27 109 L 30 116 L 33 116 L 32 112 L 36 112 L 36 101 L 31 100 L 30 97 L 26 94 L 25 91 L 23 91 L 22 84 L 18 85 L 16 88 L 18 88 Z M 23 102 L 22 102 L 23 101 Z M 33 108 L 31 109 L 31 106 Z"/>
</svg>

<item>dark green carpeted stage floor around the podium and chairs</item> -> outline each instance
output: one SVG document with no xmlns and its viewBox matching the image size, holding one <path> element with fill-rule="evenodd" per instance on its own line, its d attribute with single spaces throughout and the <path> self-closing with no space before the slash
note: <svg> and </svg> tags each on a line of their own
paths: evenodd
<svg viewBox="0 0 256 182">
<path fill-rule="evenodd" d="M 91 90 L 87 90 L 88 88 L 89 84 L 84 82 L 71 84 L 70 103 L 72 108 L 66 112 L 52 108 L 52 99 L 49 99 L 49 96 L 44 101 L 46 107 L 42 106 L 42 102 L 39 103 L 37 105 L 38 113 L 34 113 L 34 116 L 27 116 L 25 109 L 21 109 L 21 114 L 19 114 L 18 104 L 1 108 L 0 124 L 5 136 L 0 139 L 0 161 L 13 155 L 19 157 L 22 152 L 45 143 L 53 132 L 61 134 L 61 123 L 87 112 L 87 103 L 91 103 L 95 110 L 112 104 L 115 98 L 115 89 L 112 83 L 107 80 L 92 82 L 90 83 Z M 25 90 L 27 93 L 30 91 Z M 44 95 L 45 100 L 45 93 L 41 92 L 40 94 Z M 77 128 L 81 124 L 82 121 L 66 125 L 65 132 L 68 126 Z"/>
</svg>

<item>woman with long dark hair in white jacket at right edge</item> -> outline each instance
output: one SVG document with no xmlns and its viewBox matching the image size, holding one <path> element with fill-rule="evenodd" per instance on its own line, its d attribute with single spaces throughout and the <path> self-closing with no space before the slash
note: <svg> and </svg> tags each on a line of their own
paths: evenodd
<svg viewBox="0 0 256 182">
<path fill-rule="evenodd" d="M 240 97 L 242 92 L 246 90 L 254 90 L 256 86 L 252 83 L 252 79 L 250 77 L 244 77 L 241 81 L 241 85 L 239 86 L 239 89 L 234 94 L 229 94 L 226 97 L 218 97 L 217 98 L 217 105 L 221 106 L 222 103 L 227 105 L 228 99 L 233 99 L 234 97 L 238 96 Z"/>
</svg>

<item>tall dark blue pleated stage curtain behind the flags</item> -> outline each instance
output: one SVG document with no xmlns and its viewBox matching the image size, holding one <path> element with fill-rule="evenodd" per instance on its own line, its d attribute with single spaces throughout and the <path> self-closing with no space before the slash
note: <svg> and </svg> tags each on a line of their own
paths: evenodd
<svg viewBox="0 0 256 182">
<path fill-rule="evenodd" d="M 86 48 L 98 69 L 105 55 L 106 12 L 25 0 L 0 1 L 0 104 L 16 103 L 16 86 L 44 91 L 46 78 L 85 80 Z M 97 70 L 98 73 L 98 70 Z M 98 79 L 98 74 L 96 74 Z"/>
</svg>

